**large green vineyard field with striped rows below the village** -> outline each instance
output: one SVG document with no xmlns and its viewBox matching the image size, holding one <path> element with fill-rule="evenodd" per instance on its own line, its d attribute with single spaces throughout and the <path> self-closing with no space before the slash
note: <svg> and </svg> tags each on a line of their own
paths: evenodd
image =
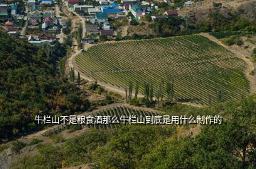
<svg viewBox="0 0 256 169">
<path fill-rule="evenodd" d="M 224 47 L 201 35 L 110 42 L 90 47 L 75 57 L 79 71 L 89 78 L 123 89 L 129 81 L 159 88 L 174 80 L 174 98 L 194 103 L 240 100 L 249 93 L 245 63 Z M 156 91 L 156 90 L 154 90 Z"/>
</svg>

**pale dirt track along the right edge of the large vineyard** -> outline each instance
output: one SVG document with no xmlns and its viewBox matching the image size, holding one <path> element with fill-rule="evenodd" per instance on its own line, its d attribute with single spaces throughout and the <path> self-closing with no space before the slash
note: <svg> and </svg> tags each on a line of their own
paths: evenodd
<svg viewBox="0 0 256 169">
<path fill-rule="evenodd" d="M 208 33 L 201 33 L 201 35 L 203 35 L 204 37 L 207 37 L 209 40 L 212 40 L 213 42 L 217 43 L 218 45 L 221 45 L 223 47 L 225 47 L 226 49 L 230 50 L 230 52 L 233 52 L 237 57 L 239 57 L 240 59 L 242 59 L 245 64 L 247 65 L 245 68 L 245 76 L 248 79 L 248 81 L 250 82 L 250 93 L 256 93 L 256 76 L 255 75 L 250 75 L 250 72 L 255 70 L 255 66 L 254 64 L 251 62 L 250 59 L 248 59 L 248 57 L 245 53 L 242 52 L 241 49 L 237 49 L 235 47 L 228 47 L 226 45 L 223 45 L 223 43 L 221 43 L 217 38 L 209 35 Z"/>
</svg>

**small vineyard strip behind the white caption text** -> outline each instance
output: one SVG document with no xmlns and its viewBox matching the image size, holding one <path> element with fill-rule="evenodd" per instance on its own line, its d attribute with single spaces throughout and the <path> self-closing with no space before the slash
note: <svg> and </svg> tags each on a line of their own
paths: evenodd
<svg viewBox="0 0 256 169">
<path fill-rule="evenodd" d="M 146 117 L 146 116 L 154 116 L 158 115 L 159 112 L 156 110 L 154 111 L 147 111 L 139 107 L 127 107 L 127 106 L 117 106 L 112 108 L 106 108 L 104 110 L 98 110 L 95 112 L 89 112 L 85 113 L 85 117 L 88 117 L 89 115 L 91 117 L 97 118 L 97 116 L 110 116 L 110 117 L 117 117 L 119 120 L 122 116 L 126 117 Z M 93 124 L 81 124 L 80 127 L 90 127 L 95 129 L 115 129 L 118 127 L 118 125 L 122 124 L 120 123 L 110 123 L 110 124 L 97 124 L 96 120 L 94 120 Z M 60 124 L 58 127 L 54 127 L 53 129 L 48 130 L 43 134 L 43 136 L 52 136 L 53 134 L 58 134 L 62 132 L 63 130 L 70 129 L 70 126 L 73 124 Z"/>
</svg>

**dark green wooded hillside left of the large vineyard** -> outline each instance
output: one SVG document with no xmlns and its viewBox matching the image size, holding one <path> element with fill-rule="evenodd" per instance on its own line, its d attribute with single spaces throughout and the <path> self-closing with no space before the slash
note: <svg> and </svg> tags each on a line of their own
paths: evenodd
<svg viewBox="0 0 256 169">
<path fill-rule="evenodd" d="M 0 142 L 37 129 L 35 115 L 70 115 L 89 106 L 85 95 L 58 76 L 65 46 L 41 49 L 0 33 Z"/>
</svg>

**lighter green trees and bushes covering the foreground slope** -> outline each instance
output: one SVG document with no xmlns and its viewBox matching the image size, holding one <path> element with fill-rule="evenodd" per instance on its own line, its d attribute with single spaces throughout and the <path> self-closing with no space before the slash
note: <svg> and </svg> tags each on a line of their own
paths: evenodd
<svg viewBox="0 0 256 169">
<path fill-rule="evenodd" d="M 38 144 L 37 153 L 21 153 L 11 168 L 255 168 L 256 95 L 216 107 L 177 104 L 164 110 L 164 115 L 221 115 L 224 120 L 203 125 L 199 134 L 182 135 L 195 125 L 150 124 L 87 129 L 73 139 L 59 134 L 58 141 Z"/>
</svg>

